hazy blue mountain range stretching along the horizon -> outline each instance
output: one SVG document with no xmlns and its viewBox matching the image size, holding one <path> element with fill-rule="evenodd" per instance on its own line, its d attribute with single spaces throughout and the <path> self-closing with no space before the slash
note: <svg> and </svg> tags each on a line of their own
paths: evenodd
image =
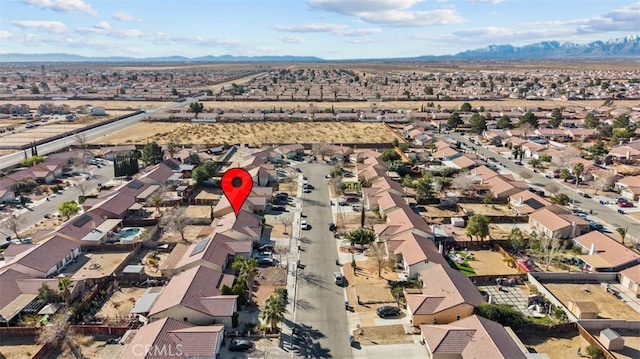
<svg viewBox="0 0 640 359">
<path fill-rule="evenodd" d="M 419 56 L 414 58 L 375 59 L 376 61 L 437 61 L 437 60 L 527 60 L 527 59 L 625 59 L 640 56 L 640 36 L 594 41 L 587 44 L 558 41 L 543 41 L 524 46 L 490 45 L 485 48 L 467 50 L 455 55 Z M 367 60 L 367 59 L 360 59 Z M 85 57 L 58 54 L 0 54 L 1 62 L 324 62 L 315 56 L 184 56 L 134 58 L 125 56 Z M 356 61 L 356 60 L 349 60 Z"/>
</svg>

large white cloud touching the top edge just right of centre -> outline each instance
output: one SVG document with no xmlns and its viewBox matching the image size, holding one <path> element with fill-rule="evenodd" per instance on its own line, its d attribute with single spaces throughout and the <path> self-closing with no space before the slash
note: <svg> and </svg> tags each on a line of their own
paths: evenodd
<svg viewBox="0 0 640 359">
<path fill-rule="evenodd" d="M 360 20 L 392 27 L 460 24 L 466 20 L 453 9 L 415 11 L 423 0 L 309 0 L 312 8 L 357 16 Z"/>
</svg>

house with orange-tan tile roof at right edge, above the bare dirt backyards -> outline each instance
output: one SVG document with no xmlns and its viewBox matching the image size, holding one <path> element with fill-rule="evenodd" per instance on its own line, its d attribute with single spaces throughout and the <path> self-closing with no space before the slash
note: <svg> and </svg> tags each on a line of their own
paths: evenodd
<svg viewBox="0 0 640 359">
<path fill-rule="evenodd" d="M 640 255 L 600 231 L 573 239 L 582 252 L 578 256 L 590 272 L 618 272 L 640 264 Z"/>
</svg>

